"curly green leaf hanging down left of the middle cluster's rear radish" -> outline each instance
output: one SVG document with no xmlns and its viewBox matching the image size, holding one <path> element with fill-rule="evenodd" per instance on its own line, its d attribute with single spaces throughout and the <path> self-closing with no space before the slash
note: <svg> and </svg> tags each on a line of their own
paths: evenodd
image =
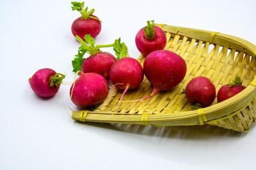
<svg viewBox="0 0 256 170">
<path fill-rule="evenodd" d="M 77 72 L 79 70 L 82 70 L 82 64 L 84 62 L 84 54 L 87 52 L 87 49 L 81 45 L 78 49 L 78 53 L 76 54 L 76 58 L 72 60 L 72 66 L 73 66 L 73 72 Z"/>
</svg>

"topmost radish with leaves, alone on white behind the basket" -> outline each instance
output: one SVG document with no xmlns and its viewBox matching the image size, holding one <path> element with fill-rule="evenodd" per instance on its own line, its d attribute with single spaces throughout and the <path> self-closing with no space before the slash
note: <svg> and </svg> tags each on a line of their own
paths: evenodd
<svg viewBox="0 0 256 170">
<path fill-rule="evenodd" d="M 84 9 L 84 2 L 72 2 L 71 4 L 73 5 L 72 10 L 77 10 L 82 15 L 82 17 L 79 17 L 76 20 L 74 20 L 71 27 L 72 34 L 74 36 L 78 35 L 80 38 L 82 38 L 82 40 L 84 40 L 84 35 L 87 34 L 90 34 L 93 38 L 99 35 L 101 30 L 101 21 L 98 19 L 98 17 L 92 15 L 94 9 L 88 12 L 88 7 Z"/>
</svg>

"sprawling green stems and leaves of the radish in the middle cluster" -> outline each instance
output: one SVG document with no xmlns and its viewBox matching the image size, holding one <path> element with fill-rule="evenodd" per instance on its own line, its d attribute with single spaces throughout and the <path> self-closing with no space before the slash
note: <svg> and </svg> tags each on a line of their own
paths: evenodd
<svg viewBox="0 0 256 170">
<path fill-rule="evenodd" d="M 90 56 L 94 56 L 95 54 L 102 52 L 100 48 L 102 47 L 114 47 L 114 50 L 116 52 L 116 59 L 128 57 L 128 49 L 125 43 L 120 43 L 120 38 L 118 40 L 115 40 L 115 43 L 106 44 L 106 45 L 95 45 L 95 41 L 90 35 L 85 35 L 84 40 L 85 42 L 76 35 L 76 39 L 82 43 L 82 45 L 78 49 L 78 54 L 76 54 L 76 58 L 72 60 L 72 66 L 73 66 L 73 72 L 77 72 L 81 70 L 83 61 L 85 58 L 83 58 L 84 54 L 87 52 L 90 54 Z M 87 44 L 89 43 L 89 45 Z"/>
</svg>

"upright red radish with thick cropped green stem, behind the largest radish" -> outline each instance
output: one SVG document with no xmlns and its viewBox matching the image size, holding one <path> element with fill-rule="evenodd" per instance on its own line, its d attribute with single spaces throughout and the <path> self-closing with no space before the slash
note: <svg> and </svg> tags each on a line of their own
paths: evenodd
<svg viewBox="0 0 256 170">
<path fill-rule="evenodd" d="M 166 35 L 164 31 L 154 26 L 154 20 L 147 22 L 147 27 L 143 27 L 137 33 L 135 42 L 138 50 L 143 55 L 148 55 L 154 50 L 163 50 L 166 45 Z"/>
</svg>

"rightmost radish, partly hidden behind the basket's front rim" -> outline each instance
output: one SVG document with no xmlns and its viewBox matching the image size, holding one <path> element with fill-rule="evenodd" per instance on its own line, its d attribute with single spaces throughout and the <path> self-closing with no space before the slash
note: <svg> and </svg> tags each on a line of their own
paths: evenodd
<svg viewBox="0 0 256 170">
<path fill-rule="evenodd" d="M 217 95 L 218 103 L 227 100 L 230 97 L 234 97 L 234 95 L 243 91 L 246 87 L 242 86 L 242 83 L 243 81 L 236 75 L 234 82 L 222 86 Z"/>
</svg>

